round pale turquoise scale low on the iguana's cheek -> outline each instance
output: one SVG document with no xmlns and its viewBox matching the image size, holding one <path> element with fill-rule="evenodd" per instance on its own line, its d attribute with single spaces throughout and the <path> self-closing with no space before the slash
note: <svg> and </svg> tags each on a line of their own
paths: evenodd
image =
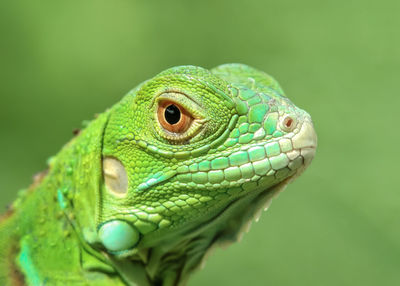
<svg viewBox="0 0 400 286">
<path fill-rule="evenodd" d="M 107 250 L 120 252 L 134 247 L 140 239 L 140 234 L 129 223 L 113 220 L 100 227 L 99 238 Z"/>
</svg>

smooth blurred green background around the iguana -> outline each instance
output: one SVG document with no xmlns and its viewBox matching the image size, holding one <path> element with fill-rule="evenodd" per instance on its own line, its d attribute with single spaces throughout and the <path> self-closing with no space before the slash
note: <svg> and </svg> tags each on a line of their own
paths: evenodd
<svg viewBox="0 0 400 286">
<path fill-rule="evenodd" d="M 3 0 L 1 206 L 139 82 L 242 62 L 313 116 L 318 152 L 189 286 L 399 285 L 399 15 L 397 0 Z"/>
</svg>

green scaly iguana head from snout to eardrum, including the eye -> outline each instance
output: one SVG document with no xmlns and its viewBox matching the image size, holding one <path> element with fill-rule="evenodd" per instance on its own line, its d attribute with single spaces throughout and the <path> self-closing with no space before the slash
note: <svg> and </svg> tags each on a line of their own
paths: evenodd
<svg viewBox="0 0 400 286">
<path fill-rule="evenodd" d="M 110 111 L 100 241 L 132 256 L 233 240 L 315 148 L 310 116 L 267 74 L 240 64 L 168 69 Z"/>
</svg>

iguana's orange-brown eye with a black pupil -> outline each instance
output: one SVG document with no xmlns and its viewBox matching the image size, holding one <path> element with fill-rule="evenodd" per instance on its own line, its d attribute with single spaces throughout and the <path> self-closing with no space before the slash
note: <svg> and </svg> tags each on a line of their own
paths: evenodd
<svg viewBox="0 0 400 286">
<path fill-rule="evenodd" d="M 171 101 L 159 103 L 157 116 L 161 126 L 173 133 L 185 132 L 193 122 L 193 117 L 184 108 Z"/>
</svg>

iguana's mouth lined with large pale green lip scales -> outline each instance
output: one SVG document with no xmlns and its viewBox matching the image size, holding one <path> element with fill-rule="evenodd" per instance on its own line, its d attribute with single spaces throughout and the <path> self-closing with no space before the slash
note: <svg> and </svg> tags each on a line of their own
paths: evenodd
<svg viewBox="0 0 400 286">
<path fill-rule="evenodd" d="M 316 151 L 317 137 L 311 120 L 306 118 L 292 137 L 260 141 L 239 146 L 207 158 L 199 158 L 190 166 L 176 168 L 175 180 L 193 187 L 240 187 L 268 177 L 280 181 L 306 168 Z M 278 181 L 270 182 L 270 186 Z"/>
</svg>

